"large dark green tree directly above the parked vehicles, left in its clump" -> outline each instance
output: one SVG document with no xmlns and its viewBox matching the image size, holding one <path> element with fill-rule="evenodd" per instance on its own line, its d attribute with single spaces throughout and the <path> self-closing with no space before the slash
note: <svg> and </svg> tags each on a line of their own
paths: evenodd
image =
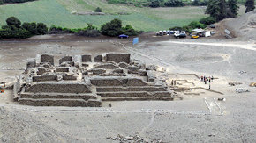
<svg viewBox="0 0 256 143">
<path fill-rule="evenodd" d="M 209 0 L 206 13 L 215 18 L 216 21 L 221 21 L 227 18 L 227 6 L 225 0 Z"/>
</svg>

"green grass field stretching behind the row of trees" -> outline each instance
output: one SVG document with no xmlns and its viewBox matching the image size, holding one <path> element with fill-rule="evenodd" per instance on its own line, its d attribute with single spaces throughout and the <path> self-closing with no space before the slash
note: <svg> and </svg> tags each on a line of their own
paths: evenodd
<svg viewBox="0 0 256 143">
<path fill-rule="evenodd" d="M 74 15 L 72 11 L 94 11 L 101 7 L 107 13 L 104 16 Z M 47 25 L 59 25 L 67 28 L 82 28 L 91 23 L 100 27 L 113 18 L 120 18 L 124 25 L 132 25 L 137 30 L 159 31 L 171 26 L 187 25 L 193 20 L 207 17 L 202 7 L 181 8 L 139 8 L 120 4 L 108 4 L 102 0 L 39 0 L 24 4 L 0 6 L 0 25 L 6 25 L 5 19 L 11 16 L 22 22 L 43 22 Z M 119 12 L 129 13 L 118 15 Z"/>
</svg>

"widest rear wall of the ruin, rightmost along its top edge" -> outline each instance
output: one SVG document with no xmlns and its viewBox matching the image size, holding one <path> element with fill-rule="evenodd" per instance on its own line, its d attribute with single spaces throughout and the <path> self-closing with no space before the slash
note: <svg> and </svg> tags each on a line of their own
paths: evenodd
<svg viewBox="0 0 256 143">
<path fill-rule="evenodd" d="M 130 54 L 106 54 L 106 61 L 130 63 Z"/>
</svg>

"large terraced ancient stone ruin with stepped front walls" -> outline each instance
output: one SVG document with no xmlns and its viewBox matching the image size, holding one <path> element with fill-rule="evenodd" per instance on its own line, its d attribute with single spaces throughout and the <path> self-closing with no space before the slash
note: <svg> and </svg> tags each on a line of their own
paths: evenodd
<svg viewBox="0 0 256 143">
<path fill-rule="evenodd" d="M 102 101 L 172 100 L 165 82 L 130 54 L 39 54 L 14 85 L 19 104 L 100 107 Z"/>
</svg>

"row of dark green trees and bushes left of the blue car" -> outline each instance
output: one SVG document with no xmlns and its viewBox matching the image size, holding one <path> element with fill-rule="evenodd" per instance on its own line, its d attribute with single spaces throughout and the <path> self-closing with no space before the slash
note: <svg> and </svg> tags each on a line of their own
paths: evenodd
<svg viewBox="0 0 256 143">
<path fill-rule="evenodd" d="M 131 25 L 126 25 L 123 27 L 122 21 L 120 19 L 113 19 L 112 21 L 102 25 L 101 31 L 97 29 L 94 25 L 87 24 L 85 28 L 63 28 L 60 26 L 52 25 L 50 28 L 43 23 L 21 23 L 18 18 L 10 17 L 6 19 L 6 24 L 0 29 L 0 39 L 26 39 L 34 35 L 43 34 L 64 34 L 64 33 L 74 33 L 78 36 L 86 37 L 97 37 L 106 35 L 109 37 L 115 37 L 120 34 L 126 34 L 129 36 L 138 35 L 139 32 L 134 30 Z"/>
</svg>

